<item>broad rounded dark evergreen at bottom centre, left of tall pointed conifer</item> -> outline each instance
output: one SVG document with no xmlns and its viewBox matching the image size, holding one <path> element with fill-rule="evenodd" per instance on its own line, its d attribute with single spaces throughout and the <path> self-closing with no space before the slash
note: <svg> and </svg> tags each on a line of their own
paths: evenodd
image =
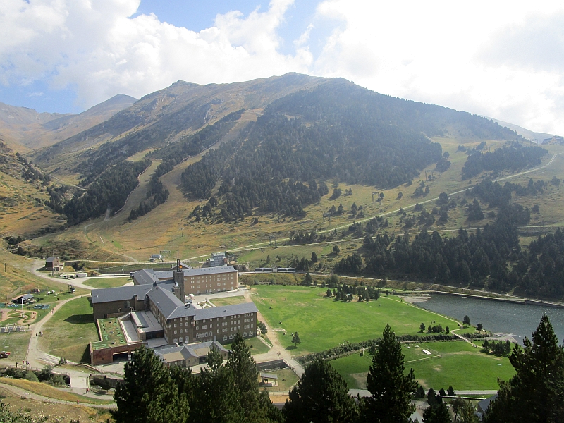
<svg viewBox="0 0 564 423">
<path fill-rule="evenodd" d="M 289 393 L 283 408 L 286 422 L 353 423 L 357 419 L 355 400 L 344 379 L 331 364 L 317 360 Z"/>
</svg>

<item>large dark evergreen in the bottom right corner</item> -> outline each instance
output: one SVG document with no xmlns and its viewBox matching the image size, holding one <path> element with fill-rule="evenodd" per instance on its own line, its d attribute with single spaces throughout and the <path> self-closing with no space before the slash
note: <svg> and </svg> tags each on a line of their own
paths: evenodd
<svg viewBox="0 0 564 423">
<path fill-rule="evenodd" d="M 486 422 L 564 422 L 564 347 L 558 345 L 548 316 L 532 333 L 532 342 L 525 337 L 523 348 L 515 345 L 509 360 L 517 374 L 500 382 Z"/>
</svg>

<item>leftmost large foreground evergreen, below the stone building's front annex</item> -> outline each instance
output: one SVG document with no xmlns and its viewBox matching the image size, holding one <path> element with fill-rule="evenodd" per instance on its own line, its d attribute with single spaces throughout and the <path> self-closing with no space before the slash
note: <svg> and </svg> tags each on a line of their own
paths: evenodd
<svg viewBox="0 0 564 423">
<path fill-rule="evenodd" d="M 118 407 L 111 415 L 116 423 L 183 423 L 188 419 L 188 407 L 180 407 L 178 388 L 171 383 L 168 368 L 145 346 L 137 348 L 125 364 L 123 384 L 118 384 L 114 399 Z"/>
</svg>

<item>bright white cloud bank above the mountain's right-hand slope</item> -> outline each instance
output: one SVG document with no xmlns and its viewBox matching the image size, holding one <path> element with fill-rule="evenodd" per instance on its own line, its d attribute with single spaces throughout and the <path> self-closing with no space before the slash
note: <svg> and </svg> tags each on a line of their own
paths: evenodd
<svg viewBox="0 0 564 423">
<path fill-rule="evenodd" d="M 564 134 L 562 13 L 557 2 L 324 1 L 319 16 L 345 24 L 315 73 Z"/>
</svg>

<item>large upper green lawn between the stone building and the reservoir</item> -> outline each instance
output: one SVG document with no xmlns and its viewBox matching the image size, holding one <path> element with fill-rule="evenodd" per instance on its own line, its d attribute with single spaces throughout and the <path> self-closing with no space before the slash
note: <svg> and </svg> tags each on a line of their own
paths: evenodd
<svg viewBox="0 0 564 423">
<path fill-rule="evenodd" d="M 324 296 L 326 289 L 302 286 L 253 286 L 251 292 L 271 328 L 286 331 L 286 335 L 276 332 L 278 339 L 296 355 L 327 350 L 347 341 L 379 338 L 387 323 L 398 335 L 418 334 L 422 322 L 458 327 L 447 317 L 409 305 L 393 295 L 367 303 L 337 302 Z M 291 342 L 290 333 L 294 331 L 302 341 L 298 348 Z"/>
</svg>

